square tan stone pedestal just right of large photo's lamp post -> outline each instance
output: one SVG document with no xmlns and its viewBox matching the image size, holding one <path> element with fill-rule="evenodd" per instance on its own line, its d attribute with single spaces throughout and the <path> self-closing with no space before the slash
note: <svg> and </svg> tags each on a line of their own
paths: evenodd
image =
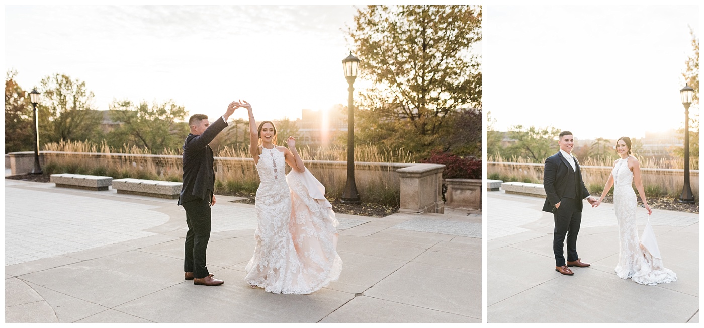
<svg viewBox="0 0 704 328">
<path fill-rule="evenodd" d="M 417 164 L 396 170 L 401 179 L 401 213 L 444 213 L 442 164 Z"/>
</svg>

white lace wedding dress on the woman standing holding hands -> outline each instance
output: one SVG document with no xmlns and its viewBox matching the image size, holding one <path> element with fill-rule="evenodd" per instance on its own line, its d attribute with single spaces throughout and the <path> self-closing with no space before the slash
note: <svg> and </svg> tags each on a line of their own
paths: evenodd
<svg viewBox="0 0 704 328">
<path fill-rule="evenodd" d="M 662 259 L 653 256 L 641 245 L 636 222 L 636 193 L 631 187 L 633 172 L 628 158 L 620 159 L 612 170 L 614 177 L 614 208 L 619 229 L 619 255 L 616 275 L 631 278 L 639 284 L 655 285 L 677 280 L 672 270 L 662 266 Z"/>
</svg>

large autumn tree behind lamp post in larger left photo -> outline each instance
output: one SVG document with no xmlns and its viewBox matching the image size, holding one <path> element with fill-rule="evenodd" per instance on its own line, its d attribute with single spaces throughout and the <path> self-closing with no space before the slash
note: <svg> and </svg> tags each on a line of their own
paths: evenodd
<svg viewBox="0 0 704 328">
<path fill-rule="evenodd" d="M 367 6 L 348 29 L 360 77 L 356 142 L 481 157 L 477 6 Z M 344 138 L 344 137 L 343 137 Z"/>
</svg>

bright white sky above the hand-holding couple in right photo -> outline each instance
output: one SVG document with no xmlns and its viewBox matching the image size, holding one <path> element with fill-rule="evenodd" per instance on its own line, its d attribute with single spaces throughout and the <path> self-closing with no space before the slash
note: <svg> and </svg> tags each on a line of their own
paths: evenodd
<svg viewBox="0 0 704 328">
<path fill-rule="evenodd" d="M 496 130 L 615 139 L 684 126 L 698 6 L 484 6 L 482 23 L 482 105 Z"/>
</svg>

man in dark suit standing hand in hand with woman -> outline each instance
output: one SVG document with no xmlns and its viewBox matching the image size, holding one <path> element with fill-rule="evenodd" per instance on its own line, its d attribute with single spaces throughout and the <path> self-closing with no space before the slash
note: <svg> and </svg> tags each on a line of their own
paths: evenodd
<svg viewBox="0 0 704 328">
<path fill-rule="evenodd" d="M 574 137 L 572 132 L 560 132 L 560 151 L 545 160 L 543 187 L 545 188 L 545 204 L 543 211 L 553 213 L 555 231 L 553 234 L 553 252 L 555 253 L 555 271 L 562 275 L 574 275 L 570 267 L 589 267 L 577 257 L 577 234 L 579 223 L 582 222 L 582 199 L 590 204 L 596 199 L 589 196 L 584 187 L 582 171 L 579 170 L 577 158 L 572 156 Z M 565 265 L 564 241 L 567 234 L 567 263 Z"/>
</svg>

